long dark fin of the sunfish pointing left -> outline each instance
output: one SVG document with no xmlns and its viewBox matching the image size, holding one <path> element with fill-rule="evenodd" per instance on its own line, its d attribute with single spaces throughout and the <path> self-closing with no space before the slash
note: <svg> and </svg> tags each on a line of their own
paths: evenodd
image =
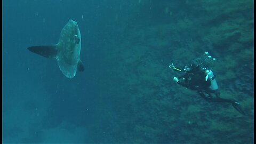
<svg viewBox="0 0 256 144">
<path fill-rule="evenodd" d="M 42 55 L 45 58 L 55 58 L 58 53 L 57 46 L 58 45 L 30 46 L 28 47 L 28 50 Z"/>
</svg>

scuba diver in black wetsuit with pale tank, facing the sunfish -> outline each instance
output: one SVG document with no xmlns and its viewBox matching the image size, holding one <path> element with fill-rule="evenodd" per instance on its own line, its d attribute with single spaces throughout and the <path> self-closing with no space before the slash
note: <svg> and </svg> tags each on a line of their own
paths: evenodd
<svg viewBox="0 0 256 144">
<path fill-rule="evenodd" d="M 208 52 L 205 52 L 207 57 L 205 59 L 199 58 L 196 62 L 186 66 L 184 69 L 176 68 L 173 63 L 169 66 L 173 70 L 185 72 L 185 75 L 181 77 L 173 77 L 173 81 L 187 87 L 187 89 L 195 90 L 197 93 L 207 101 L 210 102 L 229 102 L 232 106 L 241 114 L 245 114 L 238 101 L 234 99 L 220 98 L 220 92 L 218 91 L 218 85 L 213 75 L 213 72 L 209 69 L 201 67 L 202 63 L 206 60 L 215 60 Z M 198 61 L 201 63 L 198 64 Z M 213 97 L 213 94 L 215 97 Z"/>
</svg>

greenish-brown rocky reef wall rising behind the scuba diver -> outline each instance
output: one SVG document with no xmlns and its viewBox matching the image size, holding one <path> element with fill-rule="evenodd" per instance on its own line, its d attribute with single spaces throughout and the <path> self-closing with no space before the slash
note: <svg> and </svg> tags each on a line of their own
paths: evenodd
<svg viewBox="0 0 256 144">
<path fill-rule="evenodd" d="M 253 143 L 253 1 L 134 1 L 137 11 L 105 49 L 102 99 L 111 129 L 102 139 L 121 143 Z M 120 21 L 122 19 L 119 19 Z M 183 67 L 209 52 L 221 97 L 209 103 L 172 82 L 170 63 Z M 106 93 L 108 95 L 106 96 Z M 106 98 L 105 98 L 106 99 Z M 107 130 L 107 128 L 106 128 Z M 99 137 L 98 137 L 99 138 Z M 99 140 L 100 141 L 100 140 Z"/>
</svg>

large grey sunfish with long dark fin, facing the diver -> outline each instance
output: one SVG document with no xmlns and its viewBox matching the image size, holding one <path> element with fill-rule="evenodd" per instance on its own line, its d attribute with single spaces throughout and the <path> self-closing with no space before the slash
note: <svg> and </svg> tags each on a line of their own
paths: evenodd
<svg viewBox="0 0 256 144">
<path fill-rule="evenodd" d="M 46 58 L 57 59 L 62 73 L 73 78 L 76 71 L 84 71 L 80 60 L 81 34 L 77 22 L 69 20 L 61 30 L 59 42 L 55 45 L 30 46 L 28 50 Z"/>
</svg>

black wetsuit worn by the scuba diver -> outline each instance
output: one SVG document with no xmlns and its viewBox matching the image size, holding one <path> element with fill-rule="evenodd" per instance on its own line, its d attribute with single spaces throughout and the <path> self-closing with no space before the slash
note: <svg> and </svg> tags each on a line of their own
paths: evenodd
<svg viewBox="0 0 256 144">
<path fill-rule="evenodd" d="M 239 113 L 244 114 L 241 106 L 236 100 L 233 99 L 223 99 L 220 98 L 220 93 L 218 90 L 210 90 L 211 80 L 207 78 L 205 81 L 206 73 L 201 68 L 192 69 L 186 71 L 186 74 L 179 77 L 178 84 L 187 87 L 190 90 L 195 90 L 197 93 L 207 101 L 211 102 L 230 102 L 233 107 L 239 111 Z M 216 97 L 213 97 L 212 94 L 215 94 Z"/>
</svg>

